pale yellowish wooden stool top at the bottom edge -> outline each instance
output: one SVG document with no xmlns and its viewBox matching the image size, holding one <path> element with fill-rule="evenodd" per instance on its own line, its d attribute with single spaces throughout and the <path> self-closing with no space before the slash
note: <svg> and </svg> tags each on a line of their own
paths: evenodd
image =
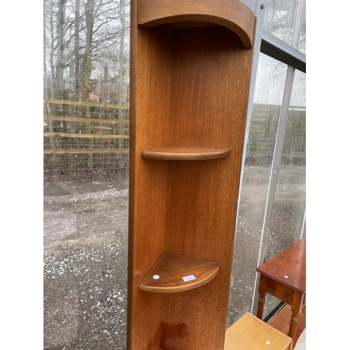
<svg viewBox="0 0 350 350">
<path fill-rule="evenodd" d="M 224 350 L 292 350 L 292 339 L 246 312 L 226 330 Z"/>
</svg>

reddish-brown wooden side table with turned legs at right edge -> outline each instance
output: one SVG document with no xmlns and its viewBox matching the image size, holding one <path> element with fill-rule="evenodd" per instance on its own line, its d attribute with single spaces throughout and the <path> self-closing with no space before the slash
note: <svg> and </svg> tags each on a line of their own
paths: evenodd
<svg viewBox="0 0 350 350">
<path fill-rule="evenodd" d="M 256 270 L 260 273 L 256 316 L 262 319 L 266 293 L 290 304 L 292 316 L 288 336 L 294 344 L 299 316 L 306 303 L 306 237 L 267 260 Z"/>
</svg>

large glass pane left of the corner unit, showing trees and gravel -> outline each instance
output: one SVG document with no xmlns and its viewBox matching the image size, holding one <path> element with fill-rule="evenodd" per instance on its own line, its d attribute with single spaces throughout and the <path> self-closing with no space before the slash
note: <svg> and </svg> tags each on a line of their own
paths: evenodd
<svg viewBox="0 0 350 350">
<path fill-rule="evenodd" d="M 44 1 L 44 349 L 126 349 L 129 12 Z"/>
</svg>

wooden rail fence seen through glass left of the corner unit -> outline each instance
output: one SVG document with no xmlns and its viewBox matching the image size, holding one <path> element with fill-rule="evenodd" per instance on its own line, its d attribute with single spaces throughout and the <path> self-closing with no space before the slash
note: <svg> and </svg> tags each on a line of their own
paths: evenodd
<svg viewBox="0 0 350 350">
<path fill-rule="evenodd" d="M 44 172 L 129 166 L 129 106 L 65 99 L 43 103 Z"/>
</svg>

